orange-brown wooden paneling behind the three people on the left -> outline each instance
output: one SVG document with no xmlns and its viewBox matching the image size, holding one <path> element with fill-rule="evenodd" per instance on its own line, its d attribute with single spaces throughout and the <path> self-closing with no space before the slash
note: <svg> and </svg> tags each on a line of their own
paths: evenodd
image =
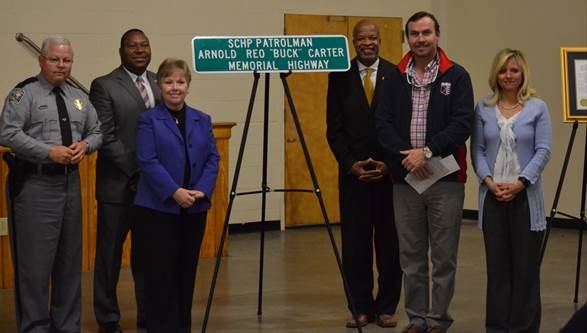
<svg viewBox="0 0 587 333">
<path fill-rule="evenodd" d="M 220 245 L 220 237 L 224 226 L 224 217 L 228 205 L 228 144 L 233 122 L 214 123 L 214 137 L 220 154 L 220 165 L 216 189 L 212 196 L 212 208 L 208 212 L 206 232 L 202 243 L 200 256 L 211 258 L 216 255 Z M 0 158 L 8 149 L 0 148 Z M 97 204 L 96 192 L 96 155 L 92 154 L 80 163 L 80 180 L 82 186 L 83 203 L 83 262 L 82 270 L 91 272 L 94 270 L 94 257 L 96 255 L 96 221 Z M 0 163 L 0 216 L 6 217 L 6 175 L 8 167 L 4 160 Z M 34 207 L 31 207 L 34 209 Z M 130 237 L 124 244 L 122 254 L 122 266 L 130 264 Z M 223 255 L 227 255 L 226 243 Z M 0 288 L 12 288 L 14 286 L 14 274 L 12 271 L 12 257 L 10 255 L 10 242 L 8 236 L 0 236 Z"/>
</svg>

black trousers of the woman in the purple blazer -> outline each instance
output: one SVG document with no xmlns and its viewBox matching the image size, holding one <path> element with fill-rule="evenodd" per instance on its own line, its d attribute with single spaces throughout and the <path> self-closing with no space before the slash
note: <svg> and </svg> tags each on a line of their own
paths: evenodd
<svg viewBox="0 0 587 333">
<path fill-rule="evenodd" d="M 137 207 L 137 258 L 146 282 L 147 332 L 191 332 L 206 212 L 173 215 Z"/>
</svg>

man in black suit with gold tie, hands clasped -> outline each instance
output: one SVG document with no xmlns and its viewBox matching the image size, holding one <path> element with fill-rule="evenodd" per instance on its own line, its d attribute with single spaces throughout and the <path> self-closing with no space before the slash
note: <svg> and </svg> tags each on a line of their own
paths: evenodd
<svg viewBox="0 0 587 333">
<path fill-rule="evenodd" d="M 342 261 L 357 311 L 346 326 L 376 321 L 394 327 L 402 273 L 392 183 L 377 142 L 374 111 L 380 83 L 395 65 L 379 57 L 379 28 L 371 21 L 355 25 L 353 45 L 357 57 L 350 70 L 329 76 L 326 133 L 339 165 Z M 379 274 L 375 297 L 373 244 Z"/>
</svg>

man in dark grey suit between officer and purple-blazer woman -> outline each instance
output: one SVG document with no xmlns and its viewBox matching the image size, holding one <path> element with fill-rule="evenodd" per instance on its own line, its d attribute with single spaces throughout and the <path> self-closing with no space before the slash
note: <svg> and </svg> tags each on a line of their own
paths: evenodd
<svg viewBox="0 0 587 333">
<path fill-rule="evenodd" d="M 94 268 L 94 312 L 100 333 L 122 332 L 116 285 L 122 245 L 133 229 L 138 182 L 135 137 L 139 114 L 161 102 L 155 74 L 147 70 L 147 36 L 131 29 L 120 40 L 121 66 L 92 82 L 90 100 L 102 123 L 103 145 L 96 164 L 98 232 Z M 131 233 L 132 236 L 132 233 Z M 131 251 L 137 301 L 137 327 L 145 327 L 144 280 Z"/>
</svg>

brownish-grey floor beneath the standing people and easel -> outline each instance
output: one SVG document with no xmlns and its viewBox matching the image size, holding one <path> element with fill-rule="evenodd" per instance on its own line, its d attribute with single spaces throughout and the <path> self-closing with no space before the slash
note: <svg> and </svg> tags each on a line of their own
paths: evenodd
<svg viewBox="0 0 587 333">
<path fill-rule="evenodd" d="M 335 234 L 339 235 L 337 227 Z M 542 329 L 555 333 L 575 310 L 573 291 L 578 232 L 555 229 L 551 233 L 542 267 Z M 349 316 L 326 229 L 322 227 L 271 231 L 266 235 L 263 315 L 257 316 L 259 234 L 232 235 L 230 255 L 222 261 L 212 313 L 210 333 L 332 333 L 356 332 L 344 328 Z M 450 332 L 483 332 L 485 257 L 483 239 L 474 223 L 463 223 L 457 287 L 451 305 L 455 319 Z M 585 251 L 583 251 L 585 252 Z M 587 301 L 587 260 L 583 267 L 579 304 Z M 193 308 L 193 332 L 200 332 L 214 260 L 200 263 Z M 122 327 L 135 332 L 135 305 L 130 271 L 119 283 L 123 309 Z M 369 325 L 365 333 L 400 332 L 406 316 L 400 303 L 400 324 L 395 329 Z M 92 310 L 92 276 L 83 280 L 83 332 L 96 332 Z M 14 332 L 12 290 L 0 290 L 0 332 Z M 587 332 L 587 331 L 586 331 Z"/>
</svg>

